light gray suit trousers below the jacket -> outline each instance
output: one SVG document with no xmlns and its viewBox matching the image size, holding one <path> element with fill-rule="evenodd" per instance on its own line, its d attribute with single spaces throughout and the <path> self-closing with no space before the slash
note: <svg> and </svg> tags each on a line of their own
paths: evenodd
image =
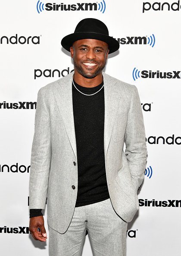
<svg viewBox="0 0 181 256">
<path fill-rule="evenodd" d="M 116 214 L 110 199 L 75 207 L 64 234 L 50 228 L 49 255 L 81 256 L 86 229 L 94 256 L 126 256 L 127 222 Z"/>
</svg>

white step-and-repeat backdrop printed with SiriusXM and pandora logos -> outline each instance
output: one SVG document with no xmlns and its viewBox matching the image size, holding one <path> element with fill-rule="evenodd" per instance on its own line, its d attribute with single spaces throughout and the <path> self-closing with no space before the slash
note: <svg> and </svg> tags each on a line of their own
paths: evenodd
<svg viewBox="0 0 181 256">
<path fill-rule="evenodd" d="M 136 85 L 148 159 L 128 256 L 180 256 L 181 1 L 2 1 L 0 8 L 0 254 L 48 255 L 28 231 L 28 182 L 38 90 L 73 72 L 61 39 L 81 19 L 103 21 L 120 44 L 105 72 Z M 121 124 L 120 124 L 121 125 Z M 48 233 L 47 213 L 45 225 Z M 83 256 L 92 256 L 86 236 Z M 106 255 L 110 256 L 110 255 Z"/>
</svg>

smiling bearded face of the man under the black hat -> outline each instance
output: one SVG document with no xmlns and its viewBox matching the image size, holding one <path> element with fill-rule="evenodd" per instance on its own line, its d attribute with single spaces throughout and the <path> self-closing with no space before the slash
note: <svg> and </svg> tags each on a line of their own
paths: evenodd
<svg viewBox="0 0 181 256">
<path fill-rule="evenodd" d="M 95 39 L 75 41 L 70 47 L 75 70 L 85 78 L 94 78 L 106 65 L 108 44 Z"/>
</svg>

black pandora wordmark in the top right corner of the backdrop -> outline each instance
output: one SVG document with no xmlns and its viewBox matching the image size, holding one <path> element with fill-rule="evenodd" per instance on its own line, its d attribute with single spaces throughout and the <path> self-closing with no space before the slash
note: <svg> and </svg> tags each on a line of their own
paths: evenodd
<svg viewBox="0 0 181 256">
<path fill-rule="evenodd" d="M 159 2 L 155 2 L 153 4 L 149 3 L 149 2 L 145 2 L 143 3 L 143 12 L 145 11 L 150 11 L 150 9 L 152 9 L 153 11 L 179 11 L 181 8 L 180 6 L 180 0 L 176 3 L 159 3 Z"/>
</svg>

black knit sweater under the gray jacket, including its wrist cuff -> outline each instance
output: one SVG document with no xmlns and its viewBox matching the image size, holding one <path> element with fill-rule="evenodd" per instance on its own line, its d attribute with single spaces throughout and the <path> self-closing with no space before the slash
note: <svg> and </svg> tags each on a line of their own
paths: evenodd
<svg viewBox="0 0 181 256">
<path fill-rule="evenodd" d="M 103 86 L 83 87 L 84 94 L 94 94 Z M 109 198 L 104 158 L 104 87 L 94 95 L 81 94 L 72 83 L 75 137 L 78 164 L 78 195 L 75 207 L 97 203 Z M 42 215 L 30 209 L 30 218 Z"/>
</svg>

